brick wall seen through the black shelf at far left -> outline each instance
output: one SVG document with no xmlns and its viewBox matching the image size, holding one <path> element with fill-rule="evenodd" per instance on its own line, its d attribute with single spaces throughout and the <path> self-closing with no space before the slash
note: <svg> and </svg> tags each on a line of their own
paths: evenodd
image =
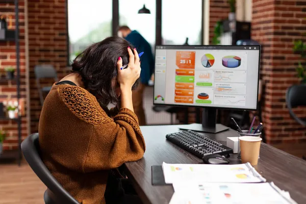
<svg viewBox="0 0 306 204">
<path fill-rule="evenodd" d="M 15 6 L 13 3 L 0 3 L 0 15 L 12 18 L 12 28 L 15 29 Z M 20 45 L 20 96 L 26 101 L 28 84 L 25 79 L 25 26 L 24 26 L 24 1 L 19 1 L 19 45 Z M 9 21 L 9 20 L 8 20 Z M 9 24 L 9 23 L 8 23 Z M 0 74 L 5 78 L 6 66 L 16 67 L 16 47 L 15 42 L 0 41 Z M 14 100 L 17 97 L 16 81 L 0 82 L 0 101 Z M 0 120 L 0 130 L 7 133 L 7 139 L 4 141 L 4 150 L 16 149 L 18 145 L 17 123 L 11 120 Z M 28 135 L 28 123 L 25 117 L 22 118 L 21 136 L 24 139 Z"/>
</svg>

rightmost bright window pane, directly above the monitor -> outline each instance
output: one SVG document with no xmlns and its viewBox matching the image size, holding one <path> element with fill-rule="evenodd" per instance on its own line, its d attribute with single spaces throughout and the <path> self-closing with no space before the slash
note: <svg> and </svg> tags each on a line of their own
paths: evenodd
<svg viewBox="0 0 306 204">
<path fill-rule="evenodd" d="M 202 0 L 162 1 L 162 41 L 165 45 L 199 45 L 202 39 Z"/>
</svg>

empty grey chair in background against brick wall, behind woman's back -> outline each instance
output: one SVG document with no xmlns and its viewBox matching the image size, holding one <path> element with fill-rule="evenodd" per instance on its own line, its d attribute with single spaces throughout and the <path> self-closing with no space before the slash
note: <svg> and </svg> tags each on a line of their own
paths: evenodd
<svg viewBox="0 0 306 204">
<path fill-rule="evenodd" d="M 43 105 L 43 92 L 48 93 L 52 86 L 41 87 L 40 80 L 41 79 L 54 79 L 55 82 L 58 81 L 57 72 L 52 65 L 36 65 L 34 67 L 36 85 L 39 93 L 39 99 L 41 106 Z"/>
</svg>

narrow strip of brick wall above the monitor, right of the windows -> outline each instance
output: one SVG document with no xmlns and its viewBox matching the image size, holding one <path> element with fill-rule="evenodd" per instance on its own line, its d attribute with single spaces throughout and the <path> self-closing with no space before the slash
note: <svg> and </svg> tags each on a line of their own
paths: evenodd
<svg viewBox="0 0 306 204">
<path fill-rule="evenodd" d="M 227 0 L 210 0 L 209 5 L 209 42 L 212 43 L 217 21 L 227 19 L 230 6 Z"/>
</svg>

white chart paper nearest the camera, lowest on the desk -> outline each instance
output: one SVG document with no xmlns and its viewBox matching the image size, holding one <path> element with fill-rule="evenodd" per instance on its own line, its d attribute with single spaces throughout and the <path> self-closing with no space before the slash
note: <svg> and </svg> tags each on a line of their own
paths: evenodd
<svg viewBox="0 0 306 204">
<path fill-rule="evenodd" d="M 273 183 L 174 183 L 173 188 L 175 196 L 173 194 L 171 204 L 296 204 L 288 192 L 280 190 Z"/>
</svg>

